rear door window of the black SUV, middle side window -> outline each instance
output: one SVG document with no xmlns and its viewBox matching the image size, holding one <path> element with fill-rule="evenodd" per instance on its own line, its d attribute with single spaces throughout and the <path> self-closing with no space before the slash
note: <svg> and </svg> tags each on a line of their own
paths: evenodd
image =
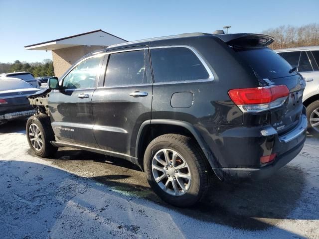
<svg viewBox="0 0 319 239">
<path fill-rule="evenodd" d="M 146 84 L 144 50 L 113 53 L 109 57 L 105 86 Z"/>
</svg>

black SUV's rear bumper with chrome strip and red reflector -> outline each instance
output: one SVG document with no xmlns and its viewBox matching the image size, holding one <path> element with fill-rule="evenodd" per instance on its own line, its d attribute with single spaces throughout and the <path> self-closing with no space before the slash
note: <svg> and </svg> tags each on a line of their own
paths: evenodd
<svg viewBox="0 0 319 239">
<path fill-rule="evenodd" d="M 302 150 L 307 136 L 307 118 L 303 114 L 298 125 L 284 135 L 278 135 L 271 125 L 222 129 L 217 136 L 211 134 L 216 130 L 214 126 L 197 129 L 220 165 L 216 170 L 223 179 L 258 180 L 271 176 Z M 260 162 L 261 156 L 273 153 L 277 154 L 274 161 Z"/>
</svg>

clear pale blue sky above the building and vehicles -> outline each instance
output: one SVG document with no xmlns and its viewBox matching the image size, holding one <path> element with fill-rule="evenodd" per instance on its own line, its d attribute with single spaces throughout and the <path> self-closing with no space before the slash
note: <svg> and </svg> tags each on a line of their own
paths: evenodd
<svg viewBox="0 0 319 239">
<path fill-rule="evenodd" d="M 0 0 L 0 62 L 42 61 L 25 45 L 102 29 L 126 40 L 186 32 L 261 32 L 319 23 L 319 0 Z"/>
</svg>

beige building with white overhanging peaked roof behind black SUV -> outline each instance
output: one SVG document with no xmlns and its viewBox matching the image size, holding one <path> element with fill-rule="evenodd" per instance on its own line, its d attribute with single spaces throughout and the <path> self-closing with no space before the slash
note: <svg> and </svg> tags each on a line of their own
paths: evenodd
<svg viewBox="0 0 319 239">
<path fill-rule="evenodd" d="M 104 49 L 110 45 L 124 42 L 127 42 L 127 40 L 99 29 L 27 45 L 24 46 L 24 48 L 26 50 L 52 51 L 54 74 L 55 76 L 60 77 L 76 60 L 82 56 L 92 51 Z"/>
</svg>

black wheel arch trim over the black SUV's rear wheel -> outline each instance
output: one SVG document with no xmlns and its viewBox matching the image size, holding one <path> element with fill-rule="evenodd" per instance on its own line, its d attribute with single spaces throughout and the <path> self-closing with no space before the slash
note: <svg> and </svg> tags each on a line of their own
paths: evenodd
<svg viewBox="0 0 319 239">
<path fill-rule="evenodd" d="M 161 131 L 160 134 L 151 135 L 150 132 L 152 132 L 152 130 L 154 130 L 154 128 L 158 125 L 160 125 L 160 128 L 164 130 Z M 172 129 L 172 126 L 174 129 Z M 155 137 L 166 133 L 182 133 L 192 136 L 200 146 L 216 176 L 222 180 L 223 174 L 219 169 L 219 164 L 200 133 L 192 124 L 181 120 L 149 119 L 141 124 L 137 134 L 135 147 L 135 156 L 137 157 L 141 168 L 143 167 L 144 152 L 147 146 L 146 142 L 150 142 L 151 139 L 153 140 Z"/>
</svg>

